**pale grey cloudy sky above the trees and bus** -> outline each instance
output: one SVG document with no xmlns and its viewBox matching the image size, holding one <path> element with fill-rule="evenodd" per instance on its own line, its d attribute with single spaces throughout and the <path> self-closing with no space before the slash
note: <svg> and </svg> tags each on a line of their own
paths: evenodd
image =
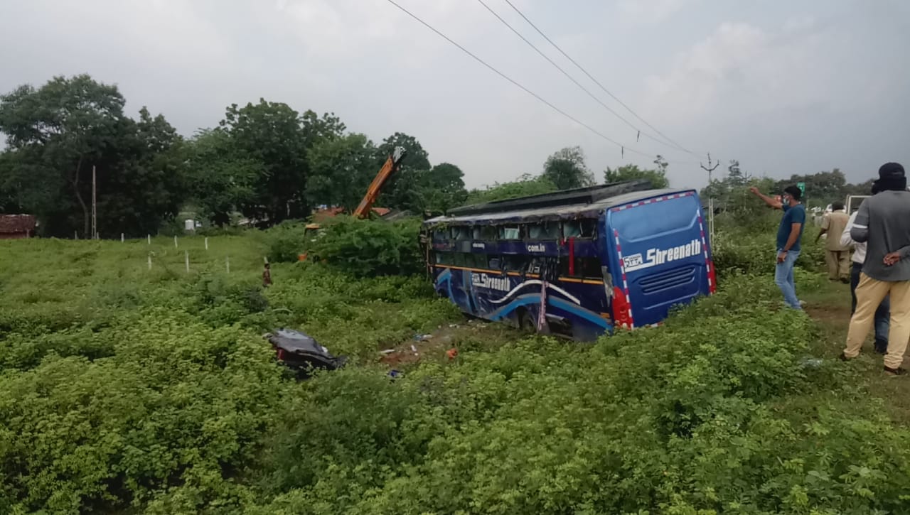
<svg viewBox="0 0 910 515">
<path fill-rule="evenodd" d="M 397 0 L 491 66 L 625 146 L 579 126 L 481 66 L 388 0 L 0 0 L 0 91 L 88 73 L 184 135 L 259 97 L 334 111 L 379 141 L 417 136 L 470 187 L 537 173 L 563 146 L 588 165 L 650 165 L 698 187 L 704 153 L 755 175 L 910 165 L 910 3 L 903 0 L 512 0 L 614 96 L 583 76 L 505 0 L 484 0 L 626 125 L 477 0 Z M 657 136 L 659 137 L 659 136 Z M 641 152 L 637 155 L 634 152 Z"/>
</svg>

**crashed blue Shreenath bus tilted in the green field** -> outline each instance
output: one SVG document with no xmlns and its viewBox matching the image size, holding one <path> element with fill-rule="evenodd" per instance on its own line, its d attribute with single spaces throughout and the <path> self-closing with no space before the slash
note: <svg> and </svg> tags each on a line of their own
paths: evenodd
<svg viewBox="0 0 910 515">
<path fill-rule="evenodd" d="M 437 293 L 477 318 L 592 340 L 716 288 L 693 190 L 647 181 L 490 202 L 425 220 Z"/>
</svg>

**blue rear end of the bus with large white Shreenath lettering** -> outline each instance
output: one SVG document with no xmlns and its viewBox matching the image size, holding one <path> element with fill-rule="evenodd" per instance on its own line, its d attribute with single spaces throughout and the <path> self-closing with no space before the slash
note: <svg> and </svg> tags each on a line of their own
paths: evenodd
<svg viewBox="0 0 910 515">
<path fill-rule="evenodd" d="M 613 282 L 632 327 L 656 324 L 673 306 L 712 293 L 711 249 L 703 227 L 694 192 L 608 211 Z"/>
</svg>

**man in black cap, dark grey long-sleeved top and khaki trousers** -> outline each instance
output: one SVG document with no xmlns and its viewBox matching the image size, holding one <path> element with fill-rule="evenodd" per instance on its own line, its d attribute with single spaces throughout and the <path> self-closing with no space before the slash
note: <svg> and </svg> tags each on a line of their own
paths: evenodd
<svg viewBox="0 0 910 515">
<path fill-rule="evenodd" d="M 891 323 L 885 372 L 905 375 L 901 367 L 910 339 L 910 192 L 904 167 L 885 163 L 878 169 L 875 186 L 880 193 L 866 198 L 856 213 L 850 237 L 866 244 L 865 261 L 856 287 L 856 310 L 850 319 L 846 348 L 841 358 L 859 355 L 875 309 L 891 300 Z"/>
</svg>

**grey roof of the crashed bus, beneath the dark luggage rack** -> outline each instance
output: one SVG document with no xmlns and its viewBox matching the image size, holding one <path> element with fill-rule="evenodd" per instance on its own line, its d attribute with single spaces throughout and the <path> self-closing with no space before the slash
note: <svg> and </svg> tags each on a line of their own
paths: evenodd
<svg viewBox="0 0 910 515">
<path fill-rule="evenodd" d="M 594 188 L 615 187 L 621 184 L 624 183 L 616 183 L 614 185 L 605 185 L 605 187 Z M 580 188 L 580 190 L 591 190 L 594 188 Z M 632 189 L 634 189 L 634 186 L 632 186 Z M 567 194 L 580 190 L 568 190 L 566 192 L 558 193 Z M 584 195 L 581 195 L 580 197 L 567 198 L 566 203 L 555 202 L 555 205 L 543 207 L 540 207 L 539 205 L 535 206 L 535 204 L 537 201 L 541 200 L 541 197 L 545 196 L 521 197 L 511 199 L 511 208 L 503 209 L 502 207 L 505 206 L 501 207 L 500 204 L 492 202 L 489 205 L 481 204 L 477 206 L 460 207 L 458 209 L 452 209 L 449 216 L 430 218 L 428 220 L 425 220 L 423 223 L 424 225 L 435 225 L 440 223 L 463 222 L 474 225 L 489 225 L 547 219 L 570 220 L 575 218 L 599 217 L 602 211 L 608 207 L 622 206 L 623 204 L 629 204 L 630 202 L 634 202 L 636 200 L 644 200 L 652 197 L 664 197 L 667 195 L 685 193 L 689 191 L 692 190 L 671 188 L 643 190 L 636 189 L 633 191 L 628 191 L 628 188 L 626 188 L 626 193 L 621 193 L 618 195 L 605 195 L 597 198 L 598 196 L 595 194 L 593 196 L 588 196 L 587 199 L 585 199 Z M 522 200 L 530 200 L 530 202 L 521 202 Z M 484 208 L 486 206 L 490 207 Z"/>
</svg>

